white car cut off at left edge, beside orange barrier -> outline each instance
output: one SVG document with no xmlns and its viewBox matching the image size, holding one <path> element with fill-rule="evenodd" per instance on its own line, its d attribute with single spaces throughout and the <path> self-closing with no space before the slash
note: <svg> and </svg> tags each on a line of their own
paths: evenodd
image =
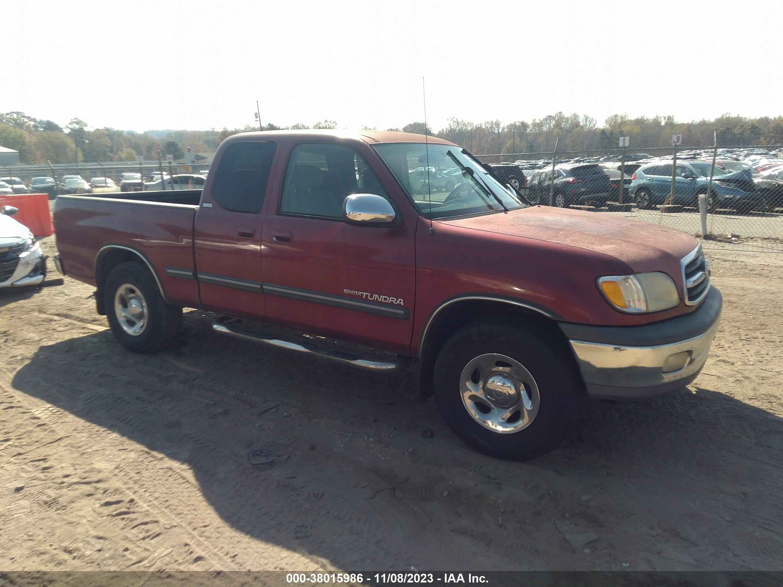
<svg viewBox="0 0 783 587">
<path fill-rule="evenodd" d="M 46 257 L 27 226 L 13 218 L 13 206 L 0 207 L 0 289 L 36 286 L 46 276 Z"/>
</svg>

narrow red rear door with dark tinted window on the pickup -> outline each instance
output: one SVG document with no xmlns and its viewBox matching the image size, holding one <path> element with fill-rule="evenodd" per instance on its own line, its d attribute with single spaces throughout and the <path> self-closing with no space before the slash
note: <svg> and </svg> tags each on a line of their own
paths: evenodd
<svg viewBox="0 0 783 587">
<path fill-rule="evenodd" d="M 215 162 L 193 230 L 201 304 L 261 320 L 263 208 L 276 144 L 236 141 Z"/>
</svg>

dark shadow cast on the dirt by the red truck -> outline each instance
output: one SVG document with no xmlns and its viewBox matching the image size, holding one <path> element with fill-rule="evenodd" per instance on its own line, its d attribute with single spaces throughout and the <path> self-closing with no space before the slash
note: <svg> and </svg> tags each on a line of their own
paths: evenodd
<svg viewBox="0 0 783 587">
<path fill-rule="evenodd" d="M 584 510 L 590 492 L 606 549 L 660 528 L 695 567 L 745 568 L 731 555 L 753 548 L 745 529 L 711 538 L 716 511 L 781 525 L 764 516 L 779 506 L 783 420 L 720 393 L 719 378 L 654 402 L 591 404 L 579 441 L 505 463 L 417 404 L 415 371 L 306 361 L 221 337 L 202 312 L 185 320 L 182 344 L 161 355 L 129 354 L 109 331 L 41 347 L 13 387 L 188 466 L 222 520 L 260 541 L 353 569 L 578 568 L 551 520 Z M 272 463 L 252 466 L 250 450 Z M 506 535 L 501 501 L 516 512 Z"/>
</svg>

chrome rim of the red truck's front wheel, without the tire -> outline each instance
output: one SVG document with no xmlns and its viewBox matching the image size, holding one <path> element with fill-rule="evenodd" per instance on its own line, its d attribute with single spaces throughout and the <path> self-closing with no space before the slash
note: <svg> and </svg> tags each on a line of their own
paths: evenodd
<svg viewBox="0 0 783 587">
<path fill-rule="evenodd" d="M 539 411 L 536 380 L 506 355 L 478 355 L 460 376 L 462 403 L 473 420 L 500 434 L 528 427 Z"/>
</svg>

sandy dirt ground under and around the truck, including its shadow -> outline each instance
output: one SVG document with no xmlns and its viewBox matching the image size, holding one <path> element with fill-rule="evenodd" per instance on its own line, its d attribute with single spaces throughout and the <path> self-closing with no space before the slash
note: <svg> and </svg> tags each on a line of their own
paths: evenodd
<svg viewBox="0 0 783 587">
<path fill-rule="evenodd" d="M 725 308 L 695 384 L 591 403 L 530 463 L 462 445 L 415 369 L 303 360 L 196 310 L 132 355 L 89 286 L 0 292 L 0 569 L 779 570 L 783 255 L 710 246 Z"/>
</svg>

